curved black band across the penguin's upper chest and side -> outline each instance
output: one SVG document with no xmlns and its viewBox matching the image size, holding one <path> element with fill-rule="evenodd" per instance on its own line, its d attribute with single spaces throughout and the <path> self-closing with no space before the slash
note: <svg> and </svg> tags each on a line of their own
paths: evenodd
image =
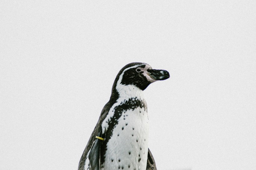
<svg viewBox="0 0 256 170">
<path fill-rule="evenodd" d="M 114 108 L 113 110 L 114 115 L 111 117 L 111 119 L 108 122 L 108 130 L 105 132 L 105 141 L 102 143 L 102 146 L 101 146 L 101 155 L 103 156 L 103 159 L 101 159 L 101 166 L 105 162 L 105 153 L 107 150 L 107 143 L 111 139 L 113 130 L 118 124 L 118 119 L 121 117 L 124 111 L 134 110 L 138 107 L 144 108 L 145 111 L 147 110 L 147 104 L 145 103 L 145 101 L 139 100 L 137 97 L 134 97 L 134 98 L 130 98 L 128 100 L 122 101 L 120 105 Z"/>
</svg>

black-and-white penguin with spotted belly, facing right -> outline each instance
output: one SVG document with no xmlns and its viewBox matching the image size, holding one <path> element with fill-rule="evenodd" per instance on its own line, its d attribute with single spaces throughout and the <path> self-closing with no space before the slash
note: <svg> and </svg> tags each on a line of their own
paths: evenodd
<svg viewBox="0 0 256 170">
<path fill-rule="evenodd" d="M 81 156 L 78 170 L 156 170 L 148 149 L 148 113 L 143 91 L 170 78 L 166 70 L 129 63 L 117 74 L 110 100 Z"/>
</svg>

